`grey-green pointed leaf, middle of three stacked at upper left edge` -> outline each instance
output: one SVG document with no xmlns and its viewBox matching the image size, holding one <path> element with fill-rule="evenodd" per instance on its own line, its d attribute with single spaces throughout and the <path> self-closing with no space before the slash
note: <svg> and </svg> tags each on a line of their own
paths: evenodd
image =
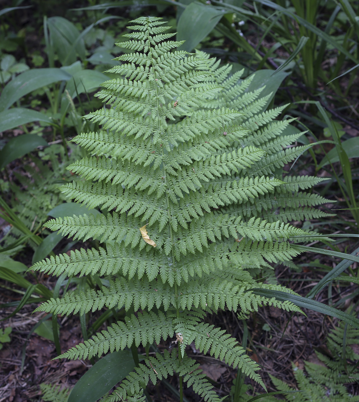
<svg viewBox="0 0 359 402">
<path fill-rule="evenodd" d="M 36 110 L 14 107 L 0 112 L 0 132 L 11 130 L 20 125 L 31 123 L 32 121 L 45 121 L 52 124 L 50 117 Z"/>
</svg>

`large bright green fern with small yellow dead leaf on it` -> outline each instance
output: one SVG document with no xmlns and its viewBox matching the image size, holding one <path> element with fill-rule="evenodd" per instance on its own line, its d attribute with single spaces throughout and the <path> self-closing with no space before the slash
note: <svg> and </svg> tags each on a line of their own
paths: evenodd
<svg viewBox="0 0 359 402">
<path fill-rule="evenodd" d="M 85 359 L 161 338 L 176 344 L 178 353 L 147 359 L 109 400 L 142 400 L 148 381 L 176 373 L 181 392 L 185 381 L 205 400 L 218 401 L 186 346 L 194 341 L 203 353 L 264 386 L 258 365 L 236 339 L 206 324 L 205 315 L 225 308 L 246 314 L 268 303 L 297 310 L 251 294 L 253 287 L 282 288 L 257 283 L 246 269 L 297 254 L 285 240 L 305 232 L 286 223 L 290 211 L 275 219 L 287 199 L 293 194 L 305 199 L 308 215 L 313 213 L 308 205 L 322 199 L 298 191 L 314 185 L 315 178 L 273 176 L 275 168 L 303 152 L 301 147 L 282 150 L 281 144 L 296 136 L 277 139 L 291 121 L 274 120 L 281 109 L 262 112 L 266 100 L 258 98 L 260 90 L 247 93 L 248 80 L 230 76 L 230 68 L 219 67 L 215 59 L 170 51 L 183 42 L 168 41 L 172 34 L 159 20 L 132 21 L 129 28 L 137 32 L 120 44 L 128 50 L 117 58 L 123 64 L 109 70 L 122 78 L 104 82 L 97 94 L 111 107 L 87 115 L 103 129 L 74 139 L 89 154 L 69 169 L 84 180 L 62 191 L 102 213 L 46 224 L 75 239 L 97 238 L 102 246 L 33 266 L 54 275 L 101 275 L 109 281 L 97 280 L 101 289 L 67 293 L 38 310 L 84 314 L 106 307 L 131 313 L 60 357 Z"/>
</svg>

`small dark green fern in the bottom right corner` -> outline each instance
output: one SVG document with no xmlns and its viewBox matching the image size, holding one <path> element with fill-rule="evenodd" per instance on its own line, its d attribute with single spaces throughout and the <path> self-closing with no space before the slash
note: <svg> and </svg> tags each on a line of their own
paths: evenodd
<svg viewBox="0 0 359 402">
<path fill-rule="evenodd" d="M 328 355 L 316 352 L 322 365 L 305 362 L 306 374 L 293 365 L 293 372 L 302 392 L 286 395 L 288 401 L 295 402 L 350 402 L 353 401 L 346 384 L 358 383 L 359 371 L 356 362 L 359 355 L 354 352 L 353 345 L 359 344 L 359 331 L 346 326 L 343 322 L 328 334 Z M 283 381 L 271 377 L 279 391 L 291 391 Z M 273 401 L 277 400 L 273 398 Z M 358 400 L 358 398 L 354 398 Z"/>
</svg>

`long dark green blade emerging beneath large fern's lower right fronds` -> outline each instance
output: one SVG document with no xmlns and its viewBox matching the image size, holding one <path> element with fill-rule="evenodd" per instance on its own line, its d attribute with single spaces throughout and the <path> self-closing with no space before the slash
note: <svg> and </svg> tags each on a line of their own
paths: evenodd
<svg viewBox="0 0 359 402">
<path fill-rule="evenodd" d="M 269 290 L 269 289 L 250 289 L 252 293 L 258 296 L 268 297 L 271 299 L 274 297 L 278 301 L 291 301 L 291 303 L 295 304 L 300 308 L 308 308 L 313 311 L 317 311 L 318 313 L 326 314 L 327 316 L 339 318 L 342 321 L 347 322 L 351 326 L 355 328 L 359 328 L 359 320 L 347 314 L 341 310 L 336 308 L 327 306 L 326 304 L 320 303 L 316 300 L 307 299 L 306 297 L 292 295 L 291 293 L 281 292 L 277 290 Z"/>
</svg>

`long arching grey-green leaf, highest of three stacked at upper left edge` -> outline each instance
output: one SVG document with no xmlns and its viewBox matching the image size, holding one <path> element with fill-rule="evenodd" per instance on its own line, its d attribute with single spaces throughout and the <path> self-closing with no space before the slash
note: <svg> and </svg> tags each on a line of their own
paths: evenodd
<svg viewBox="0 0 359 402">
<path fill-rule="evenodd" d="M 60 68 L 35 68 L 24 71 L 6 84 L 0 96 L 0 111 L 8 109 L 16 100 L 35 89 L 42 88 L 53 82 L 67 81 L 70 74 Z"/>
</svg>

